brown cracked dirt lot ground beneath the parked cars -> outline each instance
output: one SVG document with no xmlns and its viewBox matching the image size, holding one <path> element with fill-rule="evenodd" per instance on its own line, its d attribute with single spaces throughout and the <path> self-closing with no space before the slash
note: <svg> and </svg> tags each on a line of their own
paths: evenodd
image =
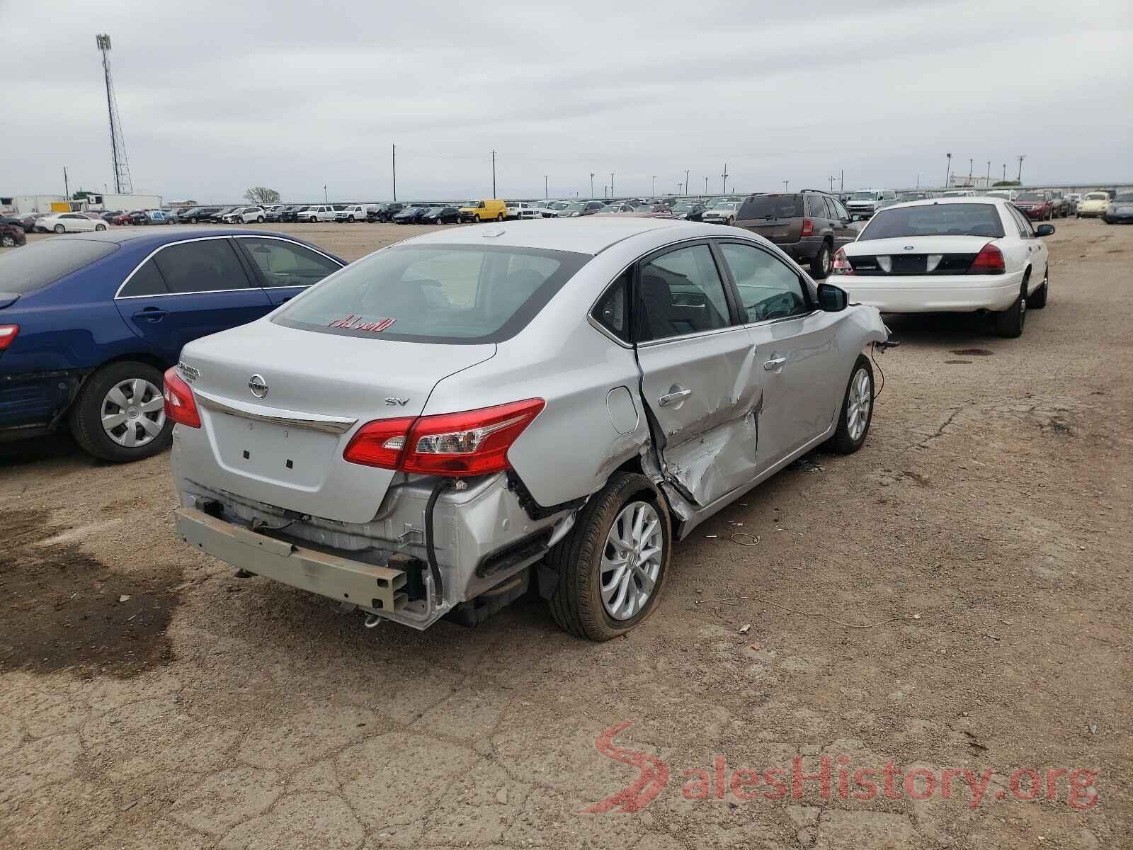
<svg viewBox="0 0 1133 850">
<path fill-rule="evenodd" d="M 1021 339 L 892 321 L 866 448 L 698 529 L 606 645 L 534 601 L 367 631 L 176 543 L 168 457 L 8 447 L 0 845 L 1128 847 L 1133 229 L 1056 223 Z"/>
</svg>

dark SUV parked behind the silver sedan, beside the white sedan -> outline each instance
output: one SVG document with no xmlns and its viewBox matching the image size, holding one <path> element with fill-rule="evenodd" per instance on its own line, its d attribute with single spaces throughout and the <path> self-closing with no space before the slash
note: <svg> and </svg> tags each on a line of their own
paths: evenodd
<svg viewBox="0 0 1133 850">
<path fill-rule="evenodd" d="M 732 223 L 775 243 L 795 262 L 810 263 L 816 280 L 830 273 L 837 249 L 858 238 L 842 202 L 817 189 L 750 195 Z"/>
</svg>

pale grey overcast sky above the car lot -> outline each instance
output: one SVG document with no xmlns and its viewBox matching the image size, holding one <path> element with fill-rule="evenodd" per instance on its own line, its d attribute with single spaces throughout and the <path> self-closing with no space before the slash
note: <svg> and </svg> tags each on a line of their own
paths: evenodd
<svg viewBox="0 0 1133 850">
<path fill-rule="evenodd" d="M 167 201 L 1133 178 L 1130 0 L 0 0 L 0 194 L 112 188 L 101 32 Z"/>
</svg>

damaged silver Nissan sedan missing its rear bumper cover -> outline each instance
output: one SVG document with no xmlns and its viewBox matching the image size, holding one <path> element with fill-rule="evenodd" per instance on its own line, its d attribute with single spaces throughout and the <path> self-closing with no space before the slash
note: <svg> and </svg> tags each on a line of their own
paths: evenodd
<svg viewBox="0 0 1133 850">
<path fill-rule="evenodd" d="M 165 375 L 186 543 L 424 629 L 536 587 L 594 640 L 674 541 L 874 414 L 874 307 L 735 228 L 513 222 L 383 248 Z"/>
</svg>

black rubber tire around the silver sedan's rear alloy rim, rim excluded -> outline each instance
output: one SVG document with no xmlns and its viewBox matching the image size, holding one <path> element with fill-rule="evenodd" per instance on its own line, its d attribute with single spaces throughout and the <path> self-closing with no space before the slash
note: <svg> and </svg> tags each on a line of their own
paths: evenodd
<svg viewBox="0 0 1133 850">
<path fill-rule="evenodd" d="M 602 555 L 611 526 L 631 501 L 648 502 L 661 518 L 663 553 L 653 594 L 642 609 L 628 620 L 615 620 L 602 603 Z M 657 607 L 672 559 L 668 507 L 653 482 L 637 473 L 615 473 L 605 487 L 582 508 L 578 522 L 565 539 L 547 554 L 547 566 L 559 573 L 551 595 L 555 622 L 576 637 L 611 640 L 630 631 Z"/>
</svg>

